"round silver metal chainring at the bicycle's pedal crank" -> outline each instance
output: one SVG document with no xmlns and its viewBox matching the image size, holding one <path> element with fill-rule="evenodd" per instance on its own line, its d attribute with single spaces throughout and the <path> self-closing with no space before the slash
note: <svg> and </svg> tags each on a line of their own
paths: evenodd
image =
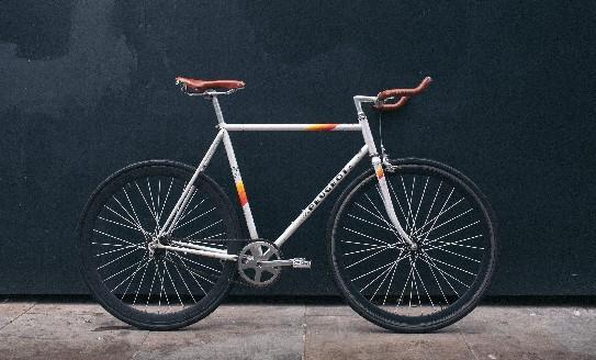
<svg viewBox="0 0 596 360">
<path fill-rule="evenodd" d="M 279 279 L 281 269 L 259 262 L 271 260 L 281 260 L 280 249 L 274 244 L 262 240 L 250 243 L 238 255 L 238 272 L 254 286 L 268 286 Z"/>
</svg>

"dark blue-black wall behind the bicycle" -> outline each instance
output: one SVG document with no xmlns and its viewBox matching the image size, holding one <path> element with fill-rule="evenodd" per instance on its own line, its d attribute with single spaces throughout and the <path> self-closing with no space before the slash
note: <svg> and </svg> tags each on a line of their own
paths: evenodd
<svg viewBox="0 0 596 360">
<path fill-rule="evenodd" d="M 430 91 L 385 116 L 386 147 L 447 162 L 492 200 L 502 240 L 492 294 L 596 294 L 595 8 L 2 1 L 0 293 L 87 292 L 75 229 L 94 187 L 133 161 L 196 164 L 215 120 L 209 103 L 175 88 L 176 76 L 245 80 L 222 101 L 230 123 L 321 123 L 356 121 L 353 94 L 431 75 Z M 361 145 L 358 133 L 233 140 L 269 238 Z M 224 166 L 220 154 L 210 173 L 230 185 Z M 335 293 L 324 245 L 337 195 L 284 247 L 314 269 L 266 293 Z"/>
</svg>

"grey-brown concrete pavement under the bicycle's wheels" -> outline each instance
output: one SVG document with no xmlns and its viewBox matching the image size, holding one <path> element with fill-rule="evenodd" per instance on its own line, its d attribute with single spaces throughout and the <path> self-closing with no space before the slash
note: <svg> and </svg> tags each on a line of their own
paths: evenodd
<svg viewBox="0 0 596 360">
<path fill-rule="evenodd" d="M 392 334 L 347 305 L 228 304 L 183 330 L 137 330 L 93 303 L 0 302 L 0 359 L 596 359 L 596 307 L 480 306 Z"/>
</svg>

